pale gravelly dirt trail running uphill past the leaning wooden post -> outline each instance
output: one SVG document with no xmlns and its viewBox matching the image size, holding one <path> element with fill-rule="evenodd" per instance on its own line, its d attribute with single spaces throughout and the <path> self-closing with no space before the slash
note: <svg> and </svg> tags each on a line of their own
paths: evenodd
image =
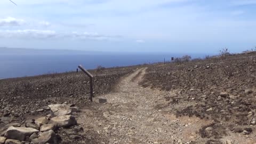
<svg viewBox="0 0 256 144">
<path fill-rule="evenodd" d="M 78 123 L 94 132 L 98 143 L 205 143 L 197 134 L 201 124 L 211 122 L 196 117 L 176 118 L 164 108 L 164 95 L 172 94 L 138 85 L 147 68 L 124 77 L 114 92 L 101 95 L 107 103 L 94 102 L 79 113 Z M 94 99 L 94 101 L 98 101 Z"/>
</svg>

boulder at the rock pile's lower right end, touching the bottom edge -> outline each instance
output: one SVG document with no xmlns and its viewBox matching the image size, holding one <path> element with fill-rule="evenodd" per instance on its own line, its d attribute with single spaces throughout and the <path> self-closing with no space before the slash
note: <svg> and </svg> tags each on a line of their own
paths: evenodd
<svg viewBox="0 0 256 144">
<path fill-rule="evenodd" d="M 54 133 L 54 131 L 50 130 L 50 131 L 42 132 L 41 134 L 39 134 L 38 142 L 39 142 L 39 144 L 41 144 L 41 143 L 42 144 L 43 143 L 57 144 L 58 139 L 57 139 L 57 136 Z"/>
</svg>

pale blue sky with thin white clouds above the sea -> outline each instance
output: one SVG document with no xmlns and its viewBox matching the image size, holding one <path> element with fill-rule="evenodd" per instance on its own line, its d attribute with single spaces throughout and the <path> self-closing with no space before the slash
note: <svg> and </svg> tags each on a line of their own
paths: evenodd
<svg viewBox="0 0 256 144">
<path fill-rule="evenodd" d="M 256 46 L 256 0 L 9 0 L 0 46 L 217 53 Z"/>
</svg>

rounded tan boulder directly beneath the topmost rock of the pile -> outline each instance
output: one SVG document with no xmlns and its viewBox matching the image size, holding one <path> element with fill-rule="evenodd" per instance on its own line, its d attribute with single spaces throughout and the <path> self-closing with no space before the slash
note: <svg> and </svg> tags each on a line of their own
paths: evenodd
<svg viewBox="0 0 256 144">
<path fill-rule="evenodd" d="M 53 117 L 51 119 L 52 123 L 58 124 L 60 127 L 69 127 L 76 125 L 76 118 L 71 115 L 66 115 L 66 116 L 58 116 L 58 117 Z"/>
</svg>

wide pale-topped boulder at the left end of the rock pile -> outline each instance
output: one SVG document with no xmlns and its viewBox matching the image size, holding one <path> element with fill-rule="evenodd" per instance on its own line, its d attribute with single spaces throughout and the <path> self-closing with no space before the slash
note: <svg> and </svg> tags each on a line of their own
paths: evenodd
<svg viewBox="0 0 256 144">
<path fill-rule="evenodd" d="M 39 131 L 36 129 L 33 129 L 31 127 L 9 127 L 5 134 L 4 137 L 7 139 L 15 139 L 15 140 L 20 140 L 23 141 L 26 139 L 26 137 L 30 137 L 31 134 L 33 133 L 38 133 Z"/>
</svg>

